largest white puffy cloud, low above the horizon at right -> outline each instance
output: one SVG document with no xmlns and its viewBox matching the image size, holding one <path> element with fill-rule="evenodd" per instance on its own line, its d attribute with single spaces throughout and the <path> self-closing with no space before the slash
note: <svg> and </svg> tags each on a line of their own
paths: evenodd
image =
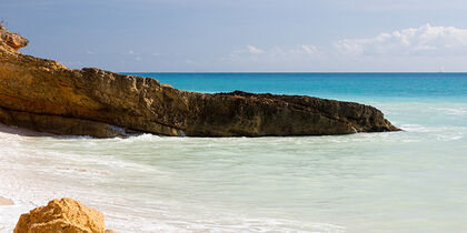
<svg viewBox="0 0 467 233">
<path fill-rule="evenodd" d="M 335 43 L 341 53 L 361 55 L 467 55 L 467 29 L 425 24 L 372 38 Z"/>
</svg>

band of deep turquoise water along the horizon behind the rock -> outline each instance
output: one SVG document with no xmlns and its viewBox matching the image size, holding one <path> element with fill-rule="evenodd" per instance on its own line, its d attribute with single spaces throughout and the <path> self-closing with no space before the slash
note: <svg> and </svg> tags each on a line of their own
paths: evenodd
<svg viewBox="0 0 467 233">
<path fill-rule="evenodd" d="M 467 73 L 126 73 L 201 92 L 467 101 Z"/>
</svg>

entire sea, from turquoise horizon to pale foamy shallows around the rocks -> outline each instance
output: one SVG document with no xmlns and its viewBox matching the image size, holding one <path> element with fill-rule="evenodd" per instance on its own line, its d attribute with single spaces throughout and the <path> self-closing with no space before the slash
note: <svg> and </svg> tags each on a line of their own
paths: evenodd
<svg viewBox="0 0 467 233">
<path fill-rule="evenodd" d="M 175 88 L 358 101 L 403 132 L 53 136 L 0 125 L 0 232 L 70 196 L 120 232 L 466 232 L 466 73 L 137 73 Z"/>
</svg>

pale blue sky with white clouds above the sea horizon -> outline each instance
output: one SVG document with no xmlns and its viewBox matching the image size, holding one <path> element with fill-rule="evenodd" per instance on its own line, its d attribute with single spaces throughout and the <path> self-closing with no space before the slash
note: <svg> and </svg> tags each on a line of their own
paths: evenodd
<svg viewBox="0 0 467 233">
<path fill-rule="evenodd" d="M 0 0 L 20 50 L 116 72 L 467 71 L 461 0 Z"/>
</svg>

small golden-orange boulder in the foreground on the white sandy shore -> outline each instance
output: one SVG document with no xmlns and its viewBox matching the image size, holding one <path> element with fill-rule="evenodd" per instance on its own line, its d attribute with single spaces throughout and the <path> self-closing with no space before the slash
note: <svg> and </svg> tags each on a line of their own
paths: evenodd
<svg viewBox="0 0 467 233">
<path fill-rule="evenodd" d="M 47 206 L 21 214 L 14 233 L 103 233 L 103 214 L 71 199 L 52 200 Z"/>
</svg>

